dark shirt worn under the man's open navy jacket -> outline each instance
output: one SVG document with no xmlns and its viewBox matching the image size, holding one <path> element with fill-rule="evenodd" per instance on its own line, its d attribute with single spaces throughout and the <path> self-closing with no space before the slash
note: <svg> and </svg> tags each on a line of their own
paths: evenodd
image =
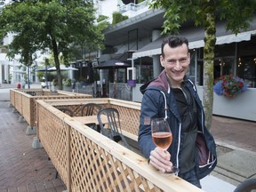
<svg viewBox="0 0 256 192">
<path fill-rule="evenodd" d="M 181 117 L 180 173 L 188 172 L 196 165 L 197 108 L 196 100 L 186 86 L 172 88 Z"/>
</svg>

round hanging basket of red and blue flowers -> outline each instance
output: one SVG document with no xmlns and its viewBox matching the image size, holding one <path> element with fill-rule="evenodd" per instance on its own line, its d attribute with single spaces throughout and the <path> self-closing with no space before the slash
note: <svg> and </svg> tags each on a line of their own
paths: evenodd
<svg viewBox="0 0 256 192">
<path fill-rule="evenodd" d="M 237 94 L 245 92 L 247 88 L 244 79 L 238 76 L 226 75 L 220 76 L 214 81 L 213 91 L 227 98 L 235 98 Z"/>
</svg>

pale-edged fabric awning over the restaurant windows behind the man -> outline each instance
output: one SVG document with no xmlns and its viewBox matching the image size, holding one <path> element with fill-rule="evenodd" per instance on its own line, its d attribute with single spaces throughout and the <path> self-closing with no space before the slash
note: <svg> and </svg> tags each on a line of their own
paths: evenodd
<svg viewBox="0 0 256 192">
<path fill-rule="evenodd" d="M 196 34 L 196 36 L 195 36 Z M 226 36 L 218 36 L 218 33 L 216 34 L 216 44 L 231 44 L 231 43 L 237 43 L 237 42 L 242 42 L 242 41 L 249 41 L 251 40 L 251 36 L 256 34 L 256 29 L 238 33 L 237 35 L 235 34 L 230 34 Z M 187 36 L 188 38 L 188 48 L 189 49 L 196 49 L 200 47 L 204 47 L 204 30 L 198 29 L 196 32 L 193 31 L 193 33 L 188 32 L 187 34 L 181 34 L 181 36 Z M 132 59 L 138 59 L 140 57 L 146 57 L 146 56 L 152 56 L 152 55 L 157 55 L 161 54 L 161 44 L 162 40 L 164 37 L 160 37 L 156 39 L 156 41 L 151 42 L 147 44 L 146 46 L 142 47 L 140 50 L 137 52 L 133 52 L 132 54 Z"/>
</svg>

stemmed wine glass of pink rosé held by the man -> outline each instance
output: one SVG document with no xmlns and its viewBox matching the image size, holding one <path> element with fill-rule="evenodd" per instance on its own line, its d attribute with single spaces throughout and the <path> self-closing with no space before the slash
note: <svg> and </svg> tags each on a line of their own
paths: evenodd
<svg viewBox="0 0 256 192">
<path fill-rule="evenodd" d="M 172 131 L 167 122 L 167 119 L 164 117 L 157 117 L 151 119 L 151 134 L 152 140 L 155 145 L 159 148 L 162 148 L 164 151 L 167 150 L 172 144 Z M 175 173 L 178 174 L 178 168 L 172 166 L 171 172 L 165 173 Z"/>
</svg>

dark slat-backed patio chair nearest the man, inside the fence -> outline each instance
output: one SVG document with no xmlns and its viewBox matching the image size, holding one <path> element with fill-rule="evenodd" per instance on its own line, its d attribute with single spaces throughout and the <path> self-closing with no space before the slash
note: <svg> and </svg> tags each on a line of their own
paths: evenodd
<svg viewBox="0 0 256 192">
<path fill-rule="evenodd" d="M 108 129 L 104 127 L 104 124 L 102 124 L 101 118 L 102 116 L 107 116 L 108 118 Z M 116 142 L 123 141 L 124 146 L 126 148 L 130 148 L 128 142 L 125 140 L 124 135 L 121 130 L 121 125 L 120 125 L 120 117 L 119 117 L 119 112 L 116 108 L 103 108 L 100 110 L 100 112 L 97 115 L 97 119 L 100 124 L 100 130 L 103 135 L 107 136 L 111 140 L 115 140 Z"/>
</svg>

